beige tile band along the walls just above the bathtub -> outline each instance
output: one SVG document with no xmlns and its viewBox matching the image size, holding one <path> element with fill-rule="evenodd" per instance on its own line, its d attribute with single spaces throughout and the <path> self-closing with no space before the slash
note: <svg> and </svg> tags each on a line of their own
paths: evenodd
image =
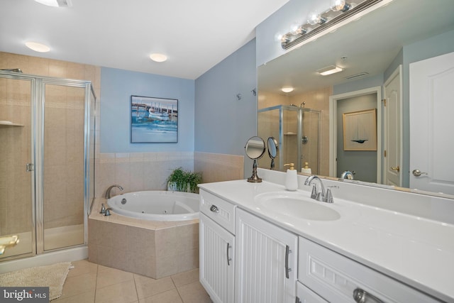
<svg viewBox="0 0 454 303">
<path fill-rule="evenodd" d="M 96 197 L 119 184 L 124 192 L 167 189 L 172 170 L 201 172 L 204 183 L 243 179 L 244 157 L 200 152 L 101 153 L 96 158 Z M 113 193 L 116 194 L 114 189 Z"/>
</svg>

